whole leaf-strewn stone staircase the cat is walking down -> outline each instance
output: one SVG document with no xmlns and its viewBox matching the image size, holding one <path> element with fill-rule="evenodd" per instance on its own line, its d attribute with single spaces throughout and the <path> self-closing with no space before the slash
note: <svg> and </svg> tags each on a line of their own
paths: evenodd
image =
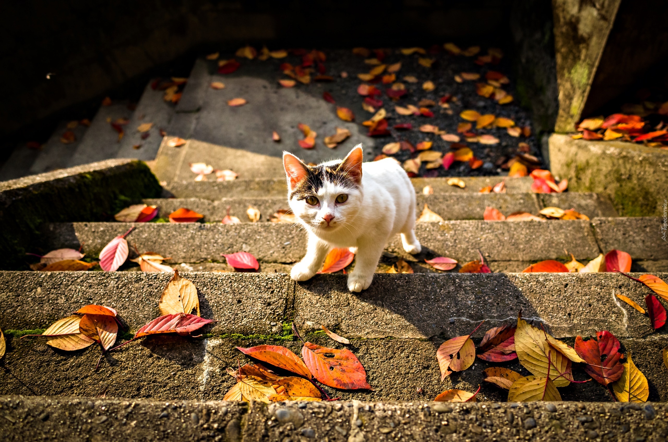
<svg viewBox="0 0 668 442">
<path fill-rule="evenodd" d="M 593 382 L 560 389 L 564 401 L 580 402 L 558 403 L 554 409 L 544 403 L 504 403 L 506 392 L 483 381 L 483 370 L 496 364 L 476 361 L 441 382 L 436 361 L 436 349 L 447 339 L 470 333 L 485 320 L 473 335 L 478 344 L 486 329 L 513 322 L 522 310 L 525 318 L 543 324 L 569 345 L 578 335 L 611 331 L 647 377 L 649 399 L 666 401 L 661 351 L 668 347 L 668 337 L 663 330 L 653 333 L 646 316 L 615 297 L 621 293 L 643 304 L 648 291 L 644 286 L 615 273 L 518 273 L 539 260 L 570 259 L 566 250 L 587 261 L 617 248 L 631 254 L 633 272 L 652 272 L 666 280 L 668 247 L 658 233 L 659 218 L 619 217 L 609 199 L 599 194 L 533 194 L 529 178 L 506 178 L 505 194 L 478 193 L 502 177 L 462 177 L 464 189 L 448 186 L 445 178 L 413 178 L 420 208 L 428 204 L 444 222 L 418 225 L 425 250 L 415 257 L 407 256 L 393 238 L 378 271 L 403 258 L 414 274 L 379 273 L 368 290 L 354 295 L 346 289 L 343 274 L 321 274 L 297 283 L 286 272 L 303 256 L 305 234 L 291 224 L 267 222 L 276 210 L 287 208 L 278 154 L 296 141 L 285 140 L 284 145 L 257 138 L 255 152 L 224 147 L 234 146 L 235 139 L 216 138 L 222 132 L 214 116 L 228 109 L 218 109 L 209 100 L 215 91 L 208 87 L 211 79 L 205 68 L 196 63 L 175 108 L 162 101 L 162 92 L 148 86 L 134 114 L 124 105 L 102 107 L 90 128 L 77 135 L 75 148 L 57 153 L 63 146 L 54 138 L 31 166 L 32 173 L 38 173 L 114 156 L 139 156 L 154 160 L 152 172 L 162 189 L 144 164 L 130 160 L 0 184 L 5 206 L 0 220 L 7 225 L 0 246 L 8 257 L 0 271 L 0 328 L 7 339 L 0 371 L 0 433 L 7 440 L 102 441 L 119 435 L 131 441 L 505 441 L 556 435 L 578 441 L 604 436 L 665 440 L 664 404 L 648 408 L 605 403 L 611 401 L 609 392 Z M 226 85 L 244 87 L 240 81 Z M 276 102 L 280 105 L 281 97 Z M 308 112 L 321 116 L 318 105 L 313 101 Z M 120 117 L 130 123 L 118 143 L 107 118 Z M 146 140 L 133 132 L 140 122 L 155 123 Z M 265 128 L 267 124 L 263 122 Z M 161 127 L 167 127 L 164 139 L 158 134 Z M 207 130 L 210 136 L 205 136 Z M 351 146 L 367 142 L 357 131 L 351 124 Z M 189 140 L 172 148 L 168 140 L 174 136 Z M 134 149 L 140 142 L 142 148 Z M 341 146 L 335 154 L 346 148 Z M 323 149 L 298 153 L 307 161 L 332 155 Z M 240 178 L 194 182 L 188 163 L 200 161 L 231 168 Z M 422 194 L 425 186 L 434 194 Z M 204 222 L 110 222 L 114 210 L 142 201 L 158 206 L 160 218 L 186 207 L 203 214 Z M 96 205 L 104 210 L 93 210 Z M 248 222 L 249 205 L 259 208 L 261 222 Z M 220 224 L 228 206 L 241 224 Z M 504 214 L 536 214 L 547 206 L 575 208 L 591 220 L 487 222 L 482 220 L 486 206 Z M 39 218 L 28 220 L 37 207 Z M 168 274 L 139 272 L 130 265 L 120 272 L 15 270 L 27 268 L 26 251 L 81 247 L 88 257 L 97 258 L 130 225 L 135 227 L 128 236 L 131 250 L 136 246 L 140 252 L 169 256 L 169 264 L 198 288 L 202 316 L 218 322 L 204 328 L 200 339 L 152 337 L 108 353 L 98 371 L 97 347 L 68 353 L 39 338 L 19 339 L 90 303 L 116 308 L 133 334 L 158 316 Z M 240 250 L 258 258 L 260 272 L 230 272 L 220 254 Z M 450 256 L 464 263 L 478 259 L 479 250 L 494 273 L 439 272 L 423 262 Z M 374 391 L 325 387 L 342 401 L 321 404 L 267 407 L 218 401 L 234 384 L 225 369 L 250 361 L 234 347 L 275 344 L 299 353 L 301 343 L 290 330 L 293 322 L 305 339 L 320 345 L 342 347 L 323 335 L 321 325 L 350 339 L 349 348 L 365 367 Z M 128 336 L 120 336 L 119 342 Z M 528 373 L 517 361 L 503 366 Z M 575 371 L 576 380 L 588 378 Z M 429 402 L 446 389 L 475 391 L 478 385 L 479 403 Z M 98 397 L 102 395 L 122 399 Z"/>
</svg>

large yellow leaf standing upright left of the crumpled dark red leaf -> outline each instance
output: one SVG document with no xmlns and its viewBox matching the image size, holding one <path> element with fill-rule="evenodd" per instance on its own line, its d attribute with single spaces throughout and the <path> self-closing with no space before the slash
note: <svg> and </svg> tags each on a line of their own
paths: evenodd
<svg viewBox="0 0 668 442">
<path fill-rule="evenodd" d="M 570 360 L 552 349 L 546 339 L 556 341 L 548 333 L 528 324 L 524 319 L 517 319 L 515 351 L 522 367 L 530 371 L 532 375 L 544 377 L 547 376 L 549 365 L 550 379 L 554 381 L 554 385 L 566 387 L 570 384 L 568 379 L 564 379 L 568 377 L 566 373 L 570 373 Z M 550 355 L 549 364 L 548 354 Z M 565 375 L 556 379 L 560 373 Z"/>
</svg>

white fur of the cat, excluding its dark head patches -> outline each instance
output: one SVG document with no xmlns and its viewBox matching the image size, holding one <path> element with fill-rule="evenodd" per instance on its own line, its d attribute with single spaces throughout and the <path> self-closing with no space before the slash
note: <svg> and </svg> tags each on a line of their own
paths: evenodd
<svg viewBox="0 0 668 442">
<path fill-rule="evenodd" d="M 337 196 L 343 193 L 348 195 L 348 200 L 337 204 Z M 361 186 L 357 190 L 325 182 L 316 196 L 319 199 L 316 206 L 297 198 L 289 200 L 290 208 L 309 235 L 306 255 L 291 271 L 294 280 L 307 280 L 316 274 L 332 248 L 357 248 L 348 288 L 360 292 L 371 284 L 389 238 L 400 233 L 406 252 L 415 254 L 422 250 L 414 231 L 415 190 L 393 158 L 363 163 Z M 329 225 L 323 218 L 326 215 L 334 216 Z"/>
</svg>

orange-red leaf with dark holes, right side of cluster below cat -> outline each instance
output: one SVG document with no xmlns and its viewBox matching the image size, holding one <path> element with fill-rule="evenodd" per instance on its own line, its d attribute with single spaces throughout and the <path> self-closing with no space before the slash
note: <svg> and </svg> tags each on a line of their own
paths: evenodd
<svg viewBox="0 0 668 442">
<path fill-rule="evenodd" d="M 305 343 L 301 357 L 313 377 L 328 387 L 346 390 L 373 390 L 367 383 L 367 373 L 348 349 L 329 349 Z"/>
</svg>

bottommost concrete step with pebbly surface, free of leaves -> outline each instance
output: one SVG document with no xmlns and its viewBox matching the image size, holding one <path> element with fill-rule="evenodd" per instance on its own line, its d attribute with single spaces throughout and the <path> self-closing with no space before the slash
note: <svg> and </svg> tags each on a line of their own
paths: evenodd
<svg viewBox="0 0 668 442">
<path fill-rule="evenodd" d="M 554 405 L 554 409 L 552 409 Z M 0 397 L 7 441 L 665 441 L 665 403 L 238 403 Z M 647 410 L 647 411 L 646 411 Z M 281 411 L 280 413 L 278 413 Z M 0 414 L 2 415 L 2 414 Z M 285 417 L 287 416 L 287 419 Z M 533 419 L 534 422 L 528 419 Z M 580 419 L 578 419 L 580 418 Z M 536 424 L 532 428 L 533 424 Z M 358 425 L 359 424 L 359 425 Z M 629 429 L 631 432 L 629 433 Z M 450 435 L 450 437 L 447 437 Z M 447 439 L 446 439 L 447 437 Z M 598 439 L 601 437 L 601 439 Z"/>
</svg>

